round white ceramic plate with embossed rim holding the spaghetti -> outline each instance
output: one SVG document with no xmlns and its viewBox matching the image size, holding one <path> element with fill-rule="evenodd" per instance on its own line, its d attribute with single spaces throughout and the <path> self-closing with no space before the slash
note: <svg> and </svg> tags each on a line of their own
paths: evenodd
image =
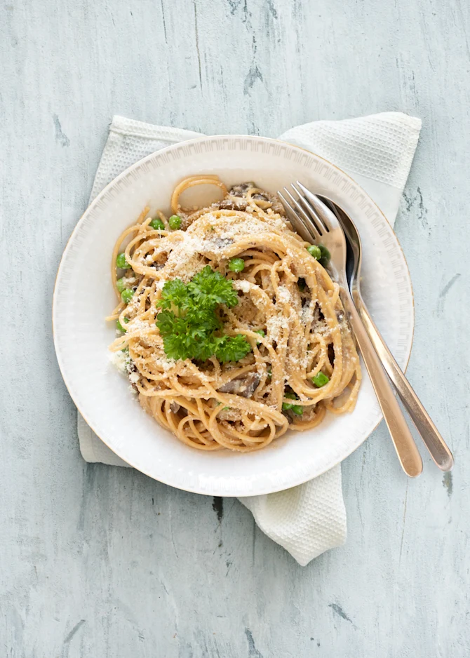
<svg viewBox="0 0 470 658">
<path fill-rule="evenodd" d="M 328 161 L 264 137 L 203 137 L 163 149 L 130 167 L 93 201 L 60 263 L 53 303 L 60 370 L 86 422 L 119 457 L 173 487 L 207 495 L 248 496 L 314 478 L 361 445 L 381 419 L 365 368 L 356 409 L 327 415 L 320 427 L 288 433 L 260 452 L 200 452 L 180 443 L 140 408 L 109 362 L 115 336 L 105 316 L 115 304 L 109 259 L 117 236 L 142 208 L 169 209 L 182 178 L 219 175 L 227 186 L 255 180 L 270 192 L 294 180 L 342 206 L 361 233 L 363 295 L 398 363 L 408 363 L 412 288 L 394 232 L 363 189 Z"/>
</svg>

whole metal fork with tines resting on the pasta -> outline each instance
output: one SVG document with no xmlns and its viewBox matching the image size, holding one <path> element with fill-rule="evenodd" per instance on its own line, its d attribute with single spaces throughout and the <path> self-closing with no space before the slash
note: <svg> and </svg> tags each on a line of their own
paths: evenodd
<svg viewBox="0 0 470 658">
<path fill-rule="evenodd" d="M 283 189 L 284 194 L 278 192 L 278 196 L 300 236 L 309 242 L 322 243 L 330 251 L 333 278 L 340 286 L 340 298 L 389 428 L 396 454 L 403 471 L 410 478 L 415 478 L 422 472 L 421 455 L 419 455 L 403 412 L 391 389 L 380 358 L 377 356 L 361 321 L 361 316 L 354 306 L 346 276 L 344 231 L 332 211 L 326 208 L 307 187 L 304 187 L 298 180 L 295 185 L 292 184 L 290 187 L 295 196 L 286 187 Z"/>
</svg>

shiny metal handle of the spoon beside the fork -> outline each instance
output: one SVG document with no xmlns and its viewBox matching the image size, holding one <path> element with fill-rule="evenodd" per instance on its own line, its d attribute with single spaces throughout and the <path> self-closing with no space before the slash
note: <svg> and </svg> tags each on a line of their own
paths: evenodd
<svg viewBox="0 0 470 658">
<path fill-rule="evenodd" d="M 368 332 L 370 340 L 387 371 L 387 375 L 389 375 L 403 405 L 405 405 L 406 410 L 410 414 L 412 422 L 414 422 L 417 431 L 419 431 L 424 445 L 426 445 L 431 457 L 441 471 L 450 471 L 454 465 L 452 452 L 450 452 L 448 445 L 445 443 L 441 434 L 439 434 L 436 425 L 432 422 L 426 409 L 424 409 L 422 403 L 419 401 L 410 382 L 408 382 L 405 375 L 403 375 L 400 366 L 396 363 L 394 356 L 391 354 L 387 344 L 380 335 L 379 330 L 370 317 L 369 311 L 367 307 L 365 307 L 360 295 L 354 295 L 354 302 L 361 314 L 363 324 Z"/>
</svg>

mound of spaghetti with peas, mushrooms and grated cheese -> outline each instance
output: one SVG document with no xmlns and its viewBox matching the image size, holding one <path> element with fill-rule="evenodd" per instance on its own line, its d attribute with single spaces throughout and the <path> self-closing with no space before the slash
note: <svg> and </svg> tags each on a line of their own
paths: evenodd
<svg viewBox="0 0 470 658">
<path fill-rule="evenodd" d="M 182 207 L 181 194 L 200 184 L 219 187 L 222 201 Z M 119 304 L 107 319 L 119 336 L 110 349 L 142 408 L 193 448 L 241 452 L 316 427 L 327 410 L 352 410 L 361 369 L 339 286 L 276 196 L 251 182 L 227 190 L 203 175 L 180 182 L 170 205 L 169 220 L 145 208 L 112 254 Z M 180 229 L 170 230 L 175 217 Z M 187 285 L 207 266 L 236 290 L 234 304 L 215 310 L 214 335 L 245 337 L 249 351 L 238 361 L 170 358 L 156 326 L 165 284 Z"/>
</svg>

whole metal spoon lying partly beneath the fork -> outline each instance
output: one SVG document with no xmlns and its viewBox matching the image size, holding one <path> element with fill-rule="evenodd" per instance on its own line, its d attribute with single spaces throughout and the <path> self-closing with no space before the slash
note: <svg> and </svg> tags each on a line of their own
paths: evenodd
<svg viewBox="0 0 470 658">
<path fill-rule="evenodd" d="M 442 471 L 450 471 L 454 465 L 452 452 L 450 452 L 448 445 L 445 443 L 441 434 L 439 434 L 436 425 L 432 422 L 421 401 L 419 401 L 418 396 L 412 389 L 410 382 L 408 382 L 400 366 L 396 363 L 394 356 L 391 354 L 391 351 L 380 335 L 379 330 L 375 326 L 375 323 L 365 306 L 361 295 L 361 238 L 358 234 L 356 224 L 354 224 L 351 217 L 349 217 L 340 206 L 333 203 L 333 201 L 326 199 L 325 197 L 319 197 L 319 199 L 325 203 L 325 206 L 328 206 L 328 208 L 335 213 L 344 229 L 347 247 L 349 247 L 346 258 L 346 272 L 349 290 L 351 290 L 354 304 L 356 304 L 356 309 L 358 309 L 359 314 L 361 315 L 363 324 L 370 336 L 370 340 L 387 371 L 387 375 L 389 375 L 391 382 L 394 384 L 403 405 L 405 405 L 412 422 L 415 424 L 424 445 L 426 445 L 431 457 L 434 459 L 434 462 L 436 462 L 436 465 Z"/>
</svg>

